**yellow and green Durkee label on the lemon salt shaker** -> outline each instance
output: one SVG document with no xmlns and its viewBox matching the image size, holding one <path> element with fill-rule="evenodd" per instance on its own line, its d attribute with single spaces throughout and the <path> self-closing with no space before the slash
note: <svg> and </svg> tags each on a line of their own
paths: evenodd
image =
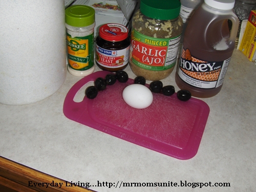
<svg viewBox="0 0 256 192">
<path fill-rule="evenodd" d="M 93 44 L 93 35 L 86 37 L 74 37 L 67 35 L 68 61 L 73 69 L 86 70 L 93 66 L 93 50 L 89 46 Z"/>
</svg>

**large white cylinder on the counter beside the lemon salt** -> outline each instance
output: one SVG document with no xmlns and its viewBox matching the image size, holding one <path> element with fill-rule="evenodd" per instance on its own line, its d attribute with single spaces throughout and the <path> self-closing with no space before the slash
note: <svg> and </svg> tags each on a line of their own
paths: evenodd
<svg viewBox="0 0 256 192">
<path fill-rule="evenodd" d="M 67 73 L 64 1 L 1 1 L 0 18 L 0 103 L 49 97 Z"/>
</svg>

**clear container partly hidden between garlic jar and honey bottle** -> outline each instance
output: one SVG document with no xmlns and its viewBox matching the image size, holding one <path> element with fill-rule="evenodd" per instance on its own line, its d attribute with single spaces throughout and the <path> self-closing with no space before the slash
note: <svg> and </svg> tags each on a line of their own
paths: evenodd
<svg viewBox="0 0 256 192">
<path fill-rule="evenodd" d="M 191 16 L 194 14 L 195 10 L 203 3 L 203 0 L 180 0 L 180 16 L 183 21 L 183 31 L 181 35 L 181 43 L 183 42 L 184 33 L 187 27 L 187 23 Z"/>
</svg>

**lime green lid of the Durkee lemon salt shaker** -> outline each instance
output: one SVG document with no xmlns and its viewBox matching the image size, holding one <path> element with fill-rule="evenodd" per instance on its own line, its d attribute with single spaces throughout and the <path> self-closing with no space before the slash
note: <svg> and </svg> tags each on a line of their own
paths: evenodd
<svg viewBox="0 0 256 192">
<path fill-rule="evenodd" d="M 87 27 L 95 21 L 95 10 L 86 5 L 74 5 L 65 10 L 66 23 L 73 27 Z"/>
</svg>

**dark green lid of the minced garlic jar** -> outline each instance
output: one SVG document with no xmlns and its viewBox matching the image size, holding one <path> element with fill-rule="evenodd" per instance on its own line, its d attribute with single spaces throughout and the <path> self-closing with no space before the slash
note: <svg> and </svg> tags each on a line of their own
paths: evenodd
<svg viewBox="0 0 256 192">
<path fill-rule="evenodd" d="M 180 15 L 179 0 L 141 0 L 140 11 L 143 15 L 160 20 L 174 19 Z"/>
</svg>

